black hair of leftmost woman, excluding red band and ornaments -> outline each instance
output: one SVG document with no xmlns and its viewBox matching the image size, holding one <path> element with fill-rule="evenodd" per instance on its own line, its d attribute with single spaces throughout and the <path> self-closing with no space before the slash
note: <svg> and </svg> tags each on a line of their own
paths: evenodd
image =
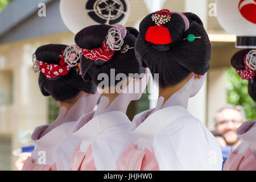
<svg viewBox="0 0 256 182">
<path fill-rule="evenodd" d="M 36 59 L 48 64 L 59 64 L 60 52 L 67 46 L 61 44 L 48 44 L 36 49 Z M 94 94 L 97 91 L 92 81 L 84 81 L 77 74 L 76 68 L 73 67 L 65 76 L 55 79 L 47 78 L 42 72 L 39 73 L 39 88 L 43 96 L 52 96 L 56 101 L 67 101 L 75 98 L 79 92 Z"/>
</svg>

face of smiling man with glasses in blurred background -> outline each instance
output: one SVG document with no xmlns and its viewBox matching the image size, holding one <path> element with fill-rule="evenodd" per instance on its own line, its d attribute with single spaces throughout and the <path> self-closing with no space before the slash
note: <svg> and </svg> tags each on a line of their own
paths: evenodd
<svg viewBox="0 0 256 182">
<path fill-rule="evenodd" d="M 224 109 L 217 114 L 215 130 L 224 135 L 226 143 L 230 146 L 238 141 L 236 131 L 242 125 L 242 115 L 236 109 Z"/>
</svg>

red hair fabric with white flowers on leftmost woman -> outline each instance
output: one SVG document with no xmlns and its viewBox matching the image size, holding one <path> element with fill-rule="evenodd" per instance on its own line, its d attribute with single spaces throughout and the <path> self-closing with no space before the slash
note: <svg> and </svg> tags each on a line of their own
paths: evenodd
<svg viewBox="0 0 256 182">
<path fill-rule="evenodd" d="M 43 61 L 38 61 L 39 71 L 42 72 L 47 78 L 54 79 L 59 76 L 67 75 L 71 67 L 65 63 L 63 50 L 60 52 L 59 64 L 48 64 Z"/>
</svg>

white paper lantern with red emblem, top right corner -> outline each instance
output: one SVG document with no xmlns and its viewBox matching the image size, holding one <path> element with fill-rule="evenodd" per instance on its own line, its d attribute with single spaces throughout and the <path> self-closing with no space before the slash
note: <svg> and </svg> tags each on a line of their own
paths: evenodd
<svg viewBox="0 0 256 182">
<path fill-rule="evenodd" d="M 256 48 L 256 0 L 216 0 L 217 19 L 237 35 L 237 48 Z"/>
</svg>

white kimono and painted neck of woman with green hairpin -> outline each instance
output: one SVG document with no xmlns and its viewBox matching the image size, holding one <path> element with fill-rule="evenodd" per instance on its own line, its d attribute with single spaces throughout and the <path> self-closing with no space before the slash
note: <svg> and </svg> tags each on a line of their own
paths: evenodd
<svg viewBox="0 0 256 182">
<path fill-rule="evenodd" d="M 130 133 L 138 137 L 134 146 L 139 151 L 154 152 L 155 159 L 152 155 L 147 157 L 146 152 L 144 158 L 147 158 L 147 164 L 143 164 L 142 159 L 142 167 L 138 167 L 138 164 L 131 165 L 122 155 L 120 169 L 221 170 L 220 144 L 203 123 L 187 110 L 189 97 L 199 92 L 204 78 L 191 78 L 164 105 L 164 98 L 160 97 L 155 109 L 135 115 L 129 127 Z M 133 147 L 130 148 L 130 151 L 134 151 Z M 124 155 L 129 155 L 129 150 Z M 154 163 L 158 163 L 158 166 L 154 166 Z"/>
</svg>

